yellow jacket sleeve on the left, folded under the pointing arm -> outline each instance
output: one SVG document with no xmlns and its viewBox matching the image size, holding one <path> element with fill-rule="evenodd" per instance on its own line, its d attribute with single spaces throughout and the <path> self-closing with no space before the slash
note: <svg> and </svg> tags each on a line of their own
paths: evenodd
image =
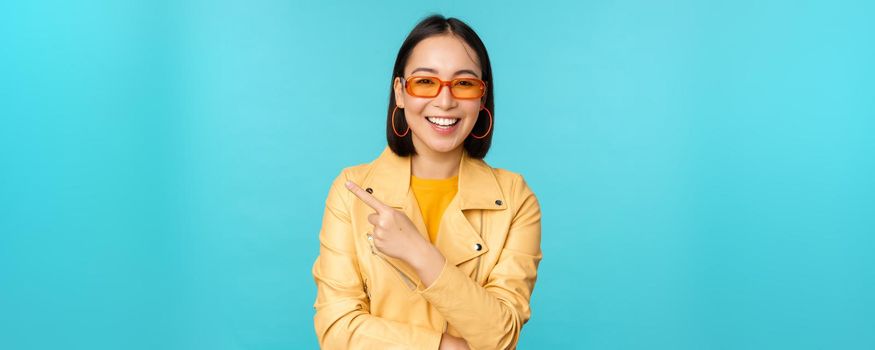
<svg viewBox="0 0 875 350">
<path fill-rule="evenodd" d="M 370 314 L 350 224 L 349 201 L 342 172 L 325 201 L 319 233 L 314 326 L 323 349 L 437 349 L 441 332 Z"/>
</svg>

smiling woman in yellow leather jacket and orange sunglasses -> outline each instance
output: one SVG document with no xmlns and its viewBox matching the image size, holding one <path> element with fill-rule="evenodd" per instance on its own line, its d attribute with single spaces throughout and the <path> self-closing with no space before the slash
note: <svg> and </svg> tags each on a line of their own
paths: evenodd
<svg viewBox="0 0 875 350">
<path fill-rule="evenodd" d="M 388 147 L 329 189 L 313 265 L 324 348 L 507 349 L 530 317 L 541 212 L 522 176 L 482 159 L 494 130 L 486 48 L 463 22 L 401 45 Z"/>
</svg>

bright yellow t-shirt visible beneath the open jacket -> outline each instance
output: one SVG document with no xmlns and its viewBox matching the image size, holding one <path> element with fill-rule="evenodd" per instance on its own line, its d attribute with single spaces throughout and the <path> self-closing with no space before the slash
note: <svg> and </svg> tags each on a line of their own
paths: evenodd
<svg viewBox="0 0 875 350">
<path fill-rule="evenodd" d="M 449 179 L 421 179 L 410 175 L 410 186 L 413 187 L 413 195 L 416 196 L 419 211 L 428 230 L 428 238 L 432 243 L 437 239 L 438 228 L 447 205 L 459 190 L 458 180 L 458 175 Z"/>
</svg>

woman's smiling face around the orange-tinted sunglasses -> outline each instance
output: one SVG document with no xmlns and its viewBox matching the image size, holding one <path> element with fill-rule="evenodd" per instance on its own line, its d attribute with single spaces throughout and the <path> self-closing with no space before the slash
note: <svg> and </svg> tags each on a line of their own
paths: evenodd
<svg viewBox="0 0 875 350">
<path fill-rule="evenodd" d="M 443 81 L 455 78 L 482 80 L 477 60 L 476 52 L 462 39 L 451 34 L 432 36 L 413 48 L 404 68 L 404 78 L 432 76 Z M 448 86 L 441 88 L 435 97 L 412 96 L 405 91 L 400 78 L 395 78 L 394 88 L 396 104 L 404 109 L 417 153 L 446 153 L 462 147 L 486 101 L 485 95 L 477 99 L 455 98 Z M 438 126 L 452 122 L 456 124 L 450 128 Z"/>
</svg>

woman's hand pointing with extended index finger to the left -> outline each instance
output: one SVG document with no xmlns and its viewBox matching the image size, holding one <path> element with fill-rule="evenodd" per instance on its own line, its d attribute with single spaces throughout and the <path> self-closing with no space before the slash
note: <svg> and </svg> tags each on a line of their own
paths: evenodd
<svg viewBox="0 0 875 350">
<path fill-rule="evenodd" d="M 346 188 L 376 211 L 368 215 L 368 222 L 374 225 L 368 239 L 381 253 L 412 264 L 413 257 L 431 245 L 407 215 L 383 204 L 352 181 L 346 182 Z"/>
</svg>

